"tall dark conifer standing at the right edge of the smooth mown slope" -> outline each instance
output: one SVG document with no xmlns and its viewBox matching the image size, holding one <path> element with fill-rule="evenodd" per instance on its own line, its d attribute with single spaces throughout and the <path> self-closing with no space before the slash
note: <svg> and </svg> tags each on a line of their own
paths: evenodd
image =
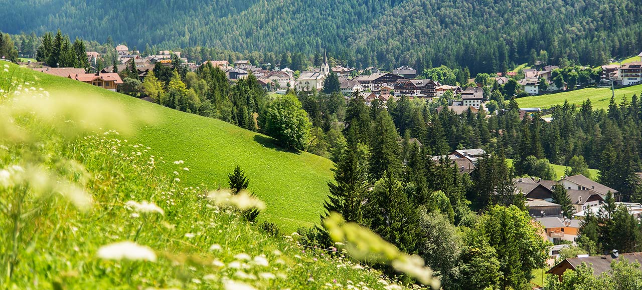
<svg viewBox="0 0 642 290">
<path fill-rule="evenodd" d="M 362 206 L 367 193 L 367 173 L 361 164 L 361 156 L 356 141 L 354 128 L 348 132 L 348 146 L 343 149 L 342 156 L 334 169 L 334 183 L 328 182 L 330 193 L 324 202 L 324 208 L 330 212 L 338 212 L 346 221 L 354 221 L 363 225 Z M 322 217 L 323 218 L 323 217 Z"/>
</svg>

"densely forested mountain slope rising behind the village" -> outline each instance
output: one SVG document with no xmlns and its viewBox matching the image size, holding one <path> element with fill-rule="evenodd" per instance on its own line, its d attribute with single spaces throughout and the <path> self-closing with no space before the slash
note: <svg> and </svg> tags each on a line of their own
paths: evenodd
<svg viewBox="0 0 642 290">
<path fill-rule="evenodd" d="M 632 0 L 132 1 L 0 0 L 0 30 L 61 28 L 112 36 L 141 51 L 210 46 L 234 51 L 322 48 L 357 67 L 446 64 L 506 71 L 542 58 L 598 65 L 639 53 L 642 8 Z M 540 51 L 545 53 L 540 53 Z"/>
</svg>

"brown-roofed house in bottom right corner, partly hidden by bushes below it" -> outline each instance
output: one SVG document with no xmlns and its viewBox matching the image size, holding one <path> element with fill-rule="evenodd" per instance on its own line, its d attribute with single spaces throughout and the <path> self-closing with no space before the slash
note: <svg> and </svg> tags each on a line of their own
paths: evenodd
<svg viewBox="0 0 642 290">
<path fill-rule="evenodd" d="M 570 269 L 575 271 L 582 264 L 586 264 L 586 266 L 593 269 L 593 275 L 598 277 L 611 271 L 611 262 L 614 260 L 627 260 L 630 263 L 642 263 L 642 253 L 618 253 L 618 250 L 612 250 L 611 253 L 607 255 L 580 255 L 577 258 L 569 258 L 559 262 L 557 265 L 553 266 L 553 268 L 546 271 L 546 274 L 557 275 L 559 279 L 562 280 L 562 275 L 564 275 L 566 270 Z"/>
</svg>

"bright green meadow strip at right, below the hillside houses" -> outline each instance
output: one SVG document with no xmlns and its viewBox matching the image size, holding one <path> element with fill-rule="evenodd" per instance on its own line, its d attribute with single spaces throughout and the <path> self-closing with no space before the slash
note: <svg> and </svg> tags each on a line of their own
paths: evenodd
<svg viewBox="0 0 642 290">
<path fill-rule="evenodd" d="M 640 96 L 641 92 L 642 85 L 616 89 L 615 98 L 619 103 L 623 97 L 630 100 L 633 94 L 638 94 L 638 96 Z M 586 99 L 591 99 L 591 103 L 593 103 L 593 108 L 595 109 L 608 108 L 609 101 L 611 100 L 611 89 L 590 87 L 580 90 L 571 90 L 568 92 L 559 92 L 557 94 L 519 98 L 517 99 L 517 103 L 519 103 L 519 107 L 521 108 L 548 108 L 553 107 L 554 105 L 561 105 L 564 103 L 564 100 L 568 100 L 569 103 L 580 106 L 583 101 L 586 101 Z"/>
</svg>

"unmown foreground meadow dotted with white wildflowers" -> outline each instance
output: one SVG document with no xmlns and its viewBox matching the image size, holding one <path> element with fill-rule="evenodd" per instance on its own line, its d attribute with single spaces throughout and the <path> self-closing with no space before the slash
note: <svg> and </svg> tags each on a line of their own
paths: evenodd
<svg viewBox="0 0 642 290">
<path fill-rule="evenodd" d="M 0 66 L 0 289 L 391 289 L 340 252 L 250 225 L 239 210 L 253 198 L 175 180 L 167 169 L 189 162 L 162 164 L 160 152 L 193 153 L 165 149 L 172 139 L 147 148 L 117 133 L 145 121 L 135 112 L 169 112 L 15 67 Z M 40 90 L 53 83 L 69 92 Z"/>
</svg>

